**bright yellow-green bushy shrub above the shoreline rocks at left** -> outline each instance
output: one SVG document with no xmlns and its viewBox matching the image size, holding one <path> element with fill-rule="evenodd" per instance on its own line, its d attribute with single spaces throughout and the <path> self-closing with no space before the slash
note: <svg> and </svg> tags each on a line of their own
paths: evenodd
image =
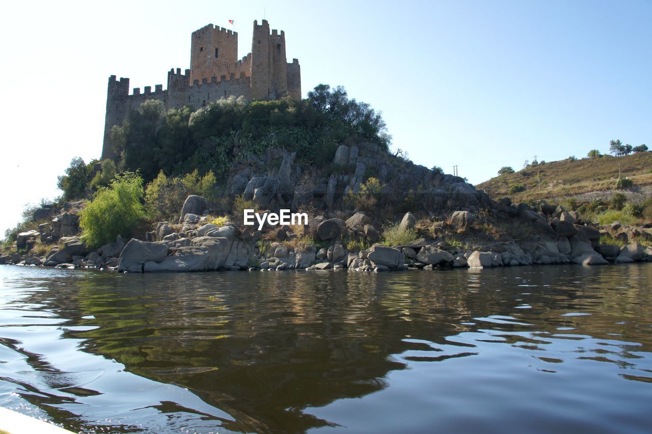
<svg viewBox="0 0 652 434">
<path fill-rule="evenodd" d="M 130 237 L 145 220 L 142 198 L 143 179 L 132 172 L 118 175 L 108 187 L 100 188 L 80 212 L 84 244 L 98 248 L 115 241 L 118 235 Z"/>
</svg>

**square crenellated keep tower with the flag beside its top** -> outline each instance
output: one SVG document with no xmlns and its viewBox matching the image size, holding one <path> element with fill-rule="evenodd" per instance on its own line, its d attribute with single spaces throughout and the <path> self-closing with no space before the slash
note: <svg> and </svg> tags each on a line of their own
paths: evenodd
<svg viewBox="0 0 652 434">
<path fill-rule="evenodd" d="M 238 57 L 238 34 L 224 27 L 205 25 L 190 36 L 190 82 L 226 76 L 234 72 Z"/>
</svg>

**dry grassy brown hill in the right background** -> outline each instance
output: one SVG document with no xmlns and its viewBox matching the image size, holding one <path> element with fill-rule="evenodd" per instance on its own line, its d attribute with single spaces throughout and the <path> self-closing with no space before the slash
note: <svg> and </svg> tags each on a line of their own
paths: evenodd
<svg viewBox="0 0 652 434">
<path fill-rule="evenodd" d="M 634 182 L 632 190 L 648 195 L 652 189 L 652 152 L 621 156 L 620 164 L 622 176 Z M 477 188 L 484 190 L 492 199 L 505 196 L 512 197 L 514 201 L 558 199 L 610 192 L 614 190 L 617 178 L 618 159 L 603 155 L 531 164 L 520 171 L 482 182 Z"/>
</svg>

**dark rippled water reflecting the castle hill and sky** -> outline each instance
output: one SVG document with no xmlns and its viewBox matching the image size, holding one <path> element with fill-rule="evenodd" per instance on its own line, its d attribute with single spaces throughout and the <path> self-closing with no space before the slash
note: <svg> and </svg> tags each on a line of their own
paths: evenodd
<svg viewBox="0 0 652 434">
<path fill-rule="evenodd" d="M 651 282 L 0 266 L 0 405 L 84 432 L 649 432 Z"/>
</svg>

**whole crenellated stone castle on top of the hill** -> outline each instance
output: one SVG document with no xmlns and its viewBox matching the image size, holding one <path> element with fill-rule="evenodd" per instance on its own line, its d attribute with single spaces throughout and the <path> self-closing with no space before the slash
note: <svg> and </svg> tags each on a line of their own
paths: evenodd
<svg viewBox="0 0 652 434">
<path fill-rule="evenodd" d="M 192 106 L 199 108 L 228 96 L 244 96 L 248 100 L 270 100 L 289 94 L 301 98 L 301 67 L 297 59 L 288 63 L 284 31 L 269 31 L 266 20 L 254 21 L 251 52 L 237 59 L 238 34 L 224 27 L 206 25 L 192 32 L 190 69 L 168 72 L 168 89 L 145 86 L 144 92 L 134 88 L 129 94 L 129 79 L 110 76 L 106 96 L 104 144 L 102 160 L 114 158 L 110 134 L 113 125 L 121 124 L 132 109 L 145 100 L 160 100 L 166 108 Z"/>
</svg>

